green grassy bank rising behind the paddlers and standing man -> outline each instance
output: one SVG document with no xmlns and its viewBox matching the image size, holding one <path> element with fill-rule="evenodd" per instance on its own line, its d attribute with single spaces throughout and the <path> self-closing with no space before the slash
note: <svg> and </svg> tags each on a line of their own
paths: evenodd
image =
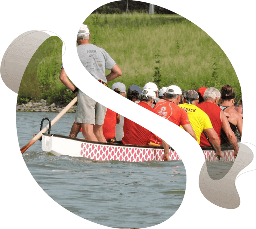
<svg viewBox="0 0 256 229">
<path fill-rule="evenodd" d="M 122 76 L 109 82 L 109 88 L 115 82 L 128 89 L 132 84 L 142 88 L 155 81 L 159 88 L 176 84 L 182 91 L 202 86 L 220 89 L 230 84 L 236 100 L 241 97 L 238 77 L 221 47 L 179 15 L 90 14 L 83 23 L 89 27 L 90 42 L 104 48 L 122 69 Z M 69 93 L 58 79 L 61 61 L 44 61 L 52 67 L 39 65 L 39 80 L 48 75 L 56 90 Z M 106 75 L 109 72 L 106 70 Z"/>
</svg>

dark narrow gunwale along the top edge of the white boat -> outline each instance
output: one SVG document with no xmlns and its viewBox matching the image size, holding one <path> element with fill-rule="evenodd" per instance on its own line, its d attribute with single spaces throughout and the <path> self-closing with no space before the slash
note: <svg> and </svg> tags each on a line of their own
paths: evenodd
<svg viewBox="0 0 256 229">
<path fill-rule="evenodd" d="M 65 136 L 65 135 L 58 135 L 58 134 L 42 133 L 42 135 L 49 136 L 49 137 L 53 136 L 53 137 L 59 137 L 59 138 L 66 138 L 66 139 L 76 140 L 76 141 L 80 141 L 80 142 L 87 142 L 87 143 L 107 145 L 107 146 L 124 146 L 124 147 L 134 147 L 134 148 L 164 149 L 163 146 L 138 146 L 138 145 L 128 145 L 128 144 L 119 144 L 119 143 L 89 141 L 89 140 L 86 140 L 86 139 L 74 138 L 74 137 L 69 137 L 69 136 Z M 202 149 L 202 151 L 213 151 L 212 147 L 201 147 L 201 149 Z M 170 150 L 175 151 L 172 147 L 170 147 Z M 221 151 L 227 151 L 227 150 L 234 150 L 234 148 L 233 148 L 233 146 L 221 146 Z"/>
</svg>

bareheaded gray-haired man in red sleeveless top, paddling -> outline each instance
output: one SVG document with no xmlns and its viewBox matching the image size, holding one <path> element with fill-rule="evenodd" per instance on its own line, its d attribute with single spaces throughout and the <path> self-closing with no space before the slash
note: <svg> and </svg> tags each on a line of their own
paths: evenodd
<svg viewBox="0 0 256 229">
<path fill-rule="evenodd" d="M 220 100 L 221 94 L 218 89 L 210 87 L 205 90 L 204 102 L 197 104 L 197 106 L 203 110 L 210 118 L 213 129 L 217 132 L 219 140 L 221 142 L 221 129 L 224 130 L 227 135 L 230 144 L 235 149 L 233 156 L 236 157 L 239 147 L 234 132 L 230 128 L 229 121 L 222 111 L 222 109 L 217 106 Z M 204 134 L 200 137 L 200 146 L 211 146 Z"/>
</svg>

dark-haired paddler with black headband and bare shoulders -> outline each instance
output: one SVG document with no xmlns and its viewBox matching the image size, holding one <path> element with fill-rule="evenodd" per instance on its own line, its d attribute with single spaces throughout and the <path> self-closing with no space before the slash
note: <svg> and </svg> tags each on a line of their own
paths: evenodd
<svg viewBox="0 0 256 229">
<path fill-rule="evenodd" d="M 220 108 L 228 113 L 230 117 L 228 118 L 229 120 L 229 125 L 233 132 L 235 133 L 236 128 L 238 129 L 238 132 L 240 136 L 242 137 L 242 130 L 243 130 L 243 119 L 241 115 L 233 109 L 233 104 L 235 101 L 235 92 L 233 91 L 233 88 L 226 84 L 221 88 L 221 105 Z M 227 139 L 226 134 L 222 130 L 221 132 L 221 143 L 224 145 L 229 144 L 229 141 Z"/>
</svg>

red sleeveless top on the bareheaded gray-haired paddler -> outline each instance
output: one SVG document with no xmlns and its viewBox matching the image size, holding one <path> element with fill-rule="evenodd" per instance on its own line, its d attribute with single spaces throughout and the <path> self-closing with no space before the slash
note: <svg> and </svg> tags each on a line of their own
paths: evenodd
<svg viewBox="0 0 256 229">
<path fill-rule="evenodd" d="M 220 132 L 222 128 L 222 122 L 220 119 L 221 108 L 210 102 L 203 102 L 197 106 L 209 116 L 213 129 L 216 131 L 220 140 Z M 201 134 L 199 146 L 211 146 L 204 133 Z"/>
</svg>

